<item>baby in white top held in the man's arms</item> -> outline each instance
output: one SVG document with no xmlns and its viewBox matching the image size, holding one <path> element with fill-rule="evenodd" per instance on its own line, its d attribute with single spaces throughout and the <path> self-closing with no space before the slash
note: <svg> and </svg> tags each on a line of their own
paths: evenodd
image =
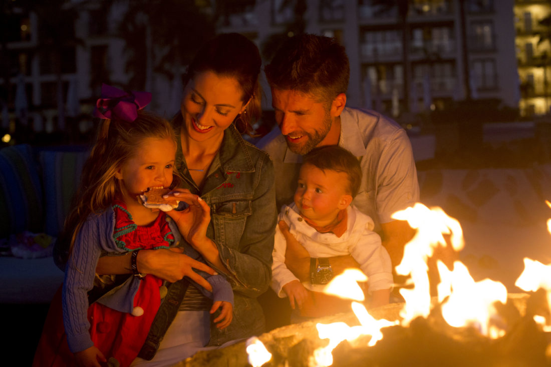
<svg viewBox="0 0 551 367">
<path fill-rule="evenodd" d="M 321 293 L 333 278 L 329 257 L 351 255 L 368 276 L 371 306 L 388 303 L 392 287 L 392 266 L 381 239 L 372 229 L 373 220 L 351 203 L 358 193 L 361 169 L 348 150 L 337 145 L 313 149 L 304 156 L 294 203 L 284 205 L 284 220 L 295 239 L 311 257 L 310 281 L 300 282 L 285 266 L 287 243 L 276 228 L 273 251 L 272 288 L 280 297 L 287 295 L 296 315 L 321 317 L 350 311 L 350 301 Z"/>
</svg>

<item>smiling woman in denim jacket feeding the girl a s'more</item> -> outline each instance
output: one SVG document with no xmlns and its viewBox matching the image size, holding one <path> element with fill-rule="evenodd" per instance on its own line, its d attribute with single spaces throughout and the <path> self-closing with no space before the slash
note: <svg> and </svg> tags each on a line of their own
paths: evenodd
<svg viewBox="0 0 551 367">
<path fill-rule="evenodd" d="M 139 353 L 143 359 L 132 365 L 171 365 L 207 344 L 223 346 L 263 332 L 256 297 L 271 278 L 277 214 L 273 165 L 240 135 L 260 116 L 260 67 L 258 48 L 246 37 L 215 37 L 188 67 L 181 111 L 173 121 L 180 134 L 175 171 L 181 189 L 172 195 L 191 205 L 183 214 L 169 215 L 179 223 L 183 238 L 228 278 L 234 290 L 233 321 L 223 330 L 216 328 L 206 299 L 188 287 L 191 278 L 210 290 L 194 269 L 211 274 L 213 269 L 173 249 L 140 250 L 133 272 L 171 284 Z M 63 257 L 61 253 L 58 262 L 64 267 Z M 104 256 L 96 273 L 128 274 L 131 269 L 131 256 Z"/>
</svg>

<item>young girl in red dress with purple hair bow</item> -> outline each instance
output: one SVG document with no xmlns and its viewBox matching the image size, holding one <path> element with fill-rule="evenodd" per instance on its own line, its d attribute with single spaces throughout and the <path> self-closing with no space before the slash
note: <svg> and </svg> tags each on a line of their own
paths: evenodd
<svg viewBox="0 0 551 367">
<path fill-rule="evenodd" d="M 98 101 L 103 111 L 96 110 L 96 116 L 105 119 L 83 169 L 79 202 L 66 222 L 65 233 L 72 239 L 62 291 L 63 323 L 78 365 L 99 366 L 115 358 L 128 366 L 166 294 L 161 279 L 139 273 L 139 250 L 167 249 L 180 242 L 174 221 L 145 208 L 137 197 L 150 187 L 171 187 L 176 142 L 168 121 L 139 110 L 150 94 L 127 94 L 106 85 L 102 92 L 115 98 Z M 190 200 L 186 195 L 181 199 Z M 89 306 L 87 292 L 98 280 L 98 258 L 127 252 L 132 252 L 134 276 Z M 200 257 L 191 248 L 186 254 Z M 220 309 L 214 322 L 222 329 L 232 319 L 233 292 L 222 276 L 207 279 L 214 295 L 210 313 Z"/>
</svg>

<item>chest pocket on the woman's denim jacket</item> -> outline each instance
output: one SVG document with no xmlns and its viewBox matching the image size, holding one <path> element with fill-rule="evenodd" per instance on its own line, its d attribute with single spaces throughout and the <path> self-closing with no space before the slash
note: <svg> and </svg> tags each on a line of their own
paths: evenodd
<svg viewBox="0 0 551 367">
<path fill-rule="evenodd" d="M 210 208 L 215 227 L 215 240 L 233 249 L 239 249 L 239 239 L 245 229 L 246 219 L 252 214 L 251 201 L 213 203 Z"/>
</svg>

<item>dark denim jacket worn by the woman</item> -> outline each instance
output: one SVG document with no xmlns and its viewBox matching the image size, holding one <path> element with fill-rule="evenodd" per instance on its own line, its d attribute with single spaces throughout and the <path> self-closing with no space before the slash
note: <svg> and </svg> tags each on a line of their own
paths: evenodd
<svg viewBox="0 0 551 367">
<path fill-rule="evenodd" d="M 224 330 L 211 323 L 209 345 L 260 334 L 264 316 L 256 297 L 270 284 L 277 218 L 272 161 L 262 150 L 245 142 L 232 125 L 225 130 L 222 145 L 199 188 L 178 145 L 175 168 L 182 177 L 180 186 L 201 196 L 210 206 L 207 236 L 216 243 L 231 273 L 228 280 L 234 290 L 233 320 Z M 186 289 L 186 279 L 171 284 L 139 357 L 153 358 Z"/>
</svg>

